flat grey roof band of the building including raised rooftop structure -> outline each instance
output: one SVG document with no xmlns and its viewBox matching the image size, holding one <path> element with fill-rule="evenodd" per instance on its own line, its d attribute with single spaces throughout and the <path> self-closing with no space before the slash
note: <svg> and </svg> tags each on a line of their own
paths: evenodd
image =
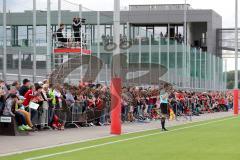
<svg viewBox="0 0 240 160">
<path fill-rule="evenodd" d="M 129 10 L 121 11 L 121 23 L 127 22 L 132 24 L 182 24 L 184 21 L 184 4 L 161 4 L 161 5 L 130 5 Z M 188 22 L 214 22 L 221 21 L 222 17 L 212 9 L 192 9 L 187 4 L 187 21 Z M 148 9 L 147 9 L 148 8 Z M 150 9 L 149 9 L 150 8 Z M 168 8 L 168 9 L 167 9 Z M 32 25 L 32 11 L 10 12 L 7 14 L 7 25 Z M 78 11 L 62 10 L 62 22 L 72 24 L 72 18 L 79 15 Z M 97 23 L 97 11 L 83 11 L 83 18 L 87 19 L 88 24 Z M 0 25 L 2 25 L 2 16 L 0 13 Z M 51 11 L 52 25 L 58 24 L 58 11 Z M 37 25 L 46 25 L 47 12 L 37 11 Z M 113 11 L 100 11 L 100 23 L 112 24 Z"/>
</svg>

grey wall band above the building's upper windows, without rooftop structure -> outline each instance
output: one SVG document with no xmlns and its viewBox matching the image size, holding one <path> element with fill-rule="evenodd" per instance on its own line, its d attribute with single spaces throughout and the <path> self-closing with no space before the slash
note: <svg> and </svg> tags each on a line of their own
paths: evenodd
<svg viewBox="0 0 240 160">
<path fill-rule="evenodd" d="M 71 24 L 72 18 L 78 15 L 78 12 L 62 11 L 62 22 Z M 112 24 L 113 12 L 101 11 L 101 23 Z M 0 17 L 2 13 L 0 13 Z M 211 22 L 213 16 L 212 10 L 188 10 L 188 22 Z M 97 12 L 83 12 L 83 17 L 87 19 L 87 23 L 96 24 Z M 183 24 L 184 13 L 181 10 L 170 11 L 121 11 L 121 23 L 135 23 L 135 24 L 162 24 L 162 23 L 180 23 Z M 57 11 L 52 11 L 51 21 L 53 25 L 57 24 Z M 7 14 L 8 25 L 32 25 L 32 12 L 14 12 Z M 47 13 L 44 11 L 37 12 L 37 25 L 46 25 Z M 2 25 L 2 18 L 0 19 Z M 220 26 L 219 26 L 220 27 Z"/>
</svg>

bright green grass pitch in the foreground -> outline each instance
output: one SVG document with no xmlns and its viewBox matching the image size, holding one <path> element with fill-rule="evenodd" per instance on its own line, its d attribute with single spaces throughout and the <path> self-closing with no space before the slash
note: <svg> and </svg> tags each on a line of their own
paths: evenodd
<svg viewBox="0 0 240 160">
<path fill-rule="evenodd" d="M 114 136 L 0 160 L 239 160 L 240 118 Z M 3 145 L 3 144 L 1 144 Z"/>
</svg>

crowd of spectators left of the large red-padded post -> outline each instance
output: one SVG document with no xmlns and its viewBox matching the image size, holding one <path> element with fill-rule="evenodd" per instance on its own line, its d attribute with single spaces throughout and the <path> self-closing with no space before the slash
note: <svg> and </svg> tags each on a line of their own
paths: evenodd
<svg viewBox="0 0 240 160">
<path fill-rule="evenodd" d="M 103 125 L 107 123 L 101 115 L 106 117 L 104 111 L 110 102 L 108 93 L 108 88 L 100 84 L 53 86 L 48 80 L 31 84 L 28 79 L 24 79 L 20 86 L 17 81 L 8 85 L 1 80 L 0 115 L 15 117 L 19 130 L 38 130 L 45 126 L 62 130 L 66 122 L 72 122 L 73 112 L 80 116 L 80 113 L 82 115 L 97 109 L 98 115 L 89 116 L 84 123 Z"/>
</svg>

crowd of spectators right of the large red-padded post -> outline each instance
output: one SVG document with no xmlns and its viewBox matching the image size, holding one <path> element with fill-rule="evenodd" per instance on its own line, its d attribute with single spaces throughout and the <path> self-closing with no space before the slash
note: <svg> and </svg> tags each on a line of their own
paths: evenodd
<svg viewBox="0 0 240 160">
<path fill-rule="evenodd" d="M 161 92 L 162 90 L 152 88 L 124 88 L 122 119 L 126 121 L 159 119 L 161 115 L 159 93 L 161 95 Z M 169 115 L 173 111 L 176 116 L 199 116 L 204 113 L 228 111 L 233 107 L 231 93 L 171 89 L 165 94 L 168 97 Z"/>
</svg>

